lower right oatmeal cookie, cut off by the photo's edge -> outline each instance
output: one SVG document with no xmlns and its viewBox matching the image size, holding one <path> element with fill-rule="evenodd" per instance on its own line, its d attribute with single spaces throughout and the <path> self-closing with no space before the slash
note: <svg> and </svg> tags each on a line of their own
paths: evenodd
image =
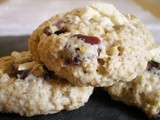
<svg viewBox="0 0 160 120">
<path fill-rule="evenodd" d="M 113 99 L 134 105 L 146 112 L 149 117 L 160 113 L 160 47 L 153 49 L 153 58 L 145 72 L 131 82 L 119 82 L 106 88 Z"/>
</svg>

